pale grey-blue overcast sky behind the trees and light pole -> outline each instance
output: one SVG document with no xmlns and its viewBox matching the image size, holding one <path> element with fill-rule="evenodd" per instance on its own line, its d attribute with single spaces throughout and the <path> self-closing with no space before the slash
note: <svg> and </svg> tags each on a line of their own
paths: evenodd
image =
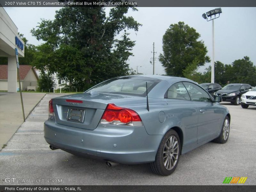
<svg viewBox="0 0 256 192">
<path fill-rule="evenodd" d="M 136 41 L 133 47 L 133 57 L 128 63 L 130 68 L 143 74 L 153 74 L 153 42 L 155 43 L 155 74 L 165 74 L 158 60 L 162 51 L 162 38 L 171 24 L 183 21 L 189 27 L 195 28 L 201 35 L 198 40 L 204 41 L 207 55 L 212 60 L 212 21 L 206 21 L 202 14 L 218 7 L 138 7 L 137 12 L 130 10 L 127 16 L 132 16 L 142 26 L 139 31 L 129 31 L 130 38 Z M 18 31 L 28 39 L 29 44 L 39 42 L 30 33 L 36 28 L 40 19 L 54 19 L 55 11 L 60 7 L 4 7 Z M 256 7 L 221 7 L 220 17 L 214 20 L 215 61 L 231 64 L 244 56 L 256 65 Z M 106 8 L 109 12 L 109 8 Z M 206 63 L 198 71 L 203 72 L 211 63 Z"/>
</svg>

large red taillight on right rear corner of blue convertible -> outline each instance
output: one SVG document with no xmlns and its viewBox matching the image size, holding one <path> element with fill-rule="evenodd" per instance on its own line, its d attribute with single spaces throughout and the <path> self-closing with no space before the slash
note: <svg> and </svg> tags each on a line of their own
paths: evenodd
<svg viewBox="0 0 256 192">
<path fill-rule="evenodd" d="M 118 107 L 115 104 L 108 104 L 101 120 L 101 124 L 142 126 L 138 113 L 129 108 Z"/>
</svg>

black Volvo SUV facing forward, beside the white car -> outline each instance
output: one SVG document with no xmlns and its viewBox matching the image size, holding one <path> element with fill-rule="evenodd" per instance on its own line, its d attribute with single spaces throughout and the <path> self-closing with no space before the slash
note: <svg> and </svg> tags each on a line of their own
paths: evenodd
<svg viewBox="0 0 256 192">
<path fill-rule="evenodd" d="M 228 101 L 234 105 L 239 105 L 242 94 L 252 89 L 249 84 L 232 83 L 214 93 L 214 96 L 220 96 L 222 101 Z"/>
</svg>

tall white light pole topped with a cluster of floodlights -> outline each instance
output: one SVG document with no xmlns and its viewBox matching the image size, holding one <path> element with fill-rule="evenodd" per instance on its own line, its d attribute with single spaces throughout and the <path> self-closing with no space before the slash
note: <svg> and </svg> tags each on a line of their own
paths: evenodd
<svg viewBox="0 0 256 192">
<path fill-rule="evenodd" d="M 206 12 L 206 14 L 204 13 L 202 15 L 202 17 L 204 19 L 206 19 L 207 21 L 212 20 L 212 75 L 211 75 L 211 83 L 214 83 L 214 19 L 217 19 L 220 17 L 220 13 L 222 13 L 221 8 L 216 8 L 213 9 L 211 11 Z M 216 17 L 217 15 L 217 17 Z M 210 19 L 208 20 L 208 18 L 210 17 Z M 214 16 L 214 18 L 213 18 Z"/>
</svg>

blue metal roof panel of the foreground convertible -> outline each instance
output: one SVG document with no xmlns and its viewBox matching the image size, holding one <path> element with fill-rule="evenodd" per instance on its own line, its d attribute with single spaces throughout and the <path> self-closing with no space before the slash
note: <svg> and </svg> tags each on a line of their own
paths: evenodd
<svg viewBox="0 0 256 192">
<path fill-rule="evenodd" d="M 191 82 L 191 83 L 196 84 L 196 82 L 194 82 L 190 79 L 184 78 L 184 77 L 165 76 L 165 75 L 128 75 L 128 76 L 131 76 L 131 77 L 148 77 L 148 78 L 160 79 L 160 80 L 167 81 L 170 84 L 174 84 L 174 83 L 180 82 L 180 81 L 187 81 L 187 82 Z"/>
</svg>

